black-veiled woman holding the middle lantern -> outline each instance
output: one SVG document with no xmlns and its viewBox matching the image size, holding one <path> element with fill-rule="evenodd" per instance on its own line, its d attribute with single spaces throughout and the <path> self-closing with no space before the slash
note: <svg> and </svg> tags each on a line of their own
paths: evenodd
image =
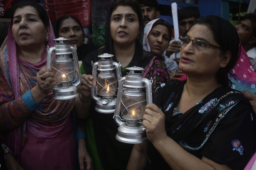
<svg viewBox="0 0 256 170">
<path fill-rule="evenodd" d="M 144 51 L 140 44 L 139 37 L 143 32 L 143 19 L 140 5 L 136 0 L 116 0 L 112 3 L 110 14 L 107 20 L 106 46 L 98 51 L 87 55 L 83 59 L 81 72 L 86 73 L 82 77 L 86 80 L 88 89 L 87 100 L 91 100 L 90 88 L 92 87 L 92 66 L 91 61 L 98 60 L 97 55 L 103 53 L 114 54 L 114 61 L 122 64 L 122 76 L 126 75 L 126 67 L 139 66 L 145 68 L 144 77 L 153 78 L 153 89 L 167 82 L 169 76 L 164 58 L 155 56 Z M 115 135 L 118 126 L 113 120 L 113 114 L 97 113 L 95 101 L 91 106 L 84 108 L 84 115 L 91 113 L 90 119 L 86 122 L 88 139 L 88 151 L 92 156 L 93 168 L 95 169 L 125 169 L 132 149 L 131 144 L 117 141 Z M 80 115 L 80 117 L 84 117 Z"/>
</svg>

